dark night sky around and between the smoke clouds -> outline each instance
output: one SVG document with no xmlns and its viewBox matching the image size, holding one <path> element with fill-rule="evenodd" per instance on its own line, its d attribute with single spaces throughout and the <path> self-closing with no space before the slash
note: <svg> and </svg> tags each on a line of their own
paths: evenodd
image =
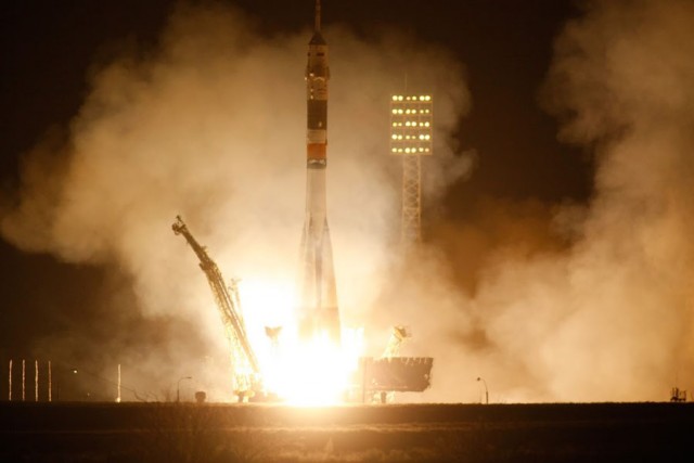
<svg viewBox="0 0 694 463">
<path fill-rule="evenodd" d="M 0 185 L 16 190 L 22 154 L 51 128 L 65 127 L 88 91 L 93 63 L 121 47 L 155 43 L 172 0 L 50 2 L 10 0 L 0 7 Z M 227 0 L 259 17 L 260 29 L 297 30 L 311 22 L 310 0 Z M 292 7 L 292 8 L 290 8 Z M 445 197 L 447 218 L 464 220 L 486 197 L 586 201 L 590 165 L 556 141 L 557 121 L 538 104 L 553 38 L 578 10 L 569 0 L 325 1 L 324 23 L 346 23 L 369 36 L 384 26 L 450 50 L 464 64 L 472 113 L 458 132 L 474 149 L 473 176 Z M 0 239 L 0 353 L 22 355 L 31 339 L 89 325 L 77 308 L 113 284 L 110 269 L 70 266 L 27 255 Z M 105 310 L 105 309 L 104 309 Z M 99 309 L 88 317 L 99 317 Z"/>
</svg>

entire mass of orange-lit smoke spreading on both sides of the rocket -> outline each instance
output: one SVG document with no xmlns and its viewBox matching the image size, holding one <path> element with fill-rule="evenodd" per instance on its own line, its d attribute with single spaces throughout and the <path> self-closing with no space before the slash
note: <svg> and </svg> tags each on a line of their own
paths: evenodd
<svg viewBox="0 0 694 463">
<path fill-rule="evenodd" d="M 382 351 L 388 325 L 407 324 L 414 336 L 402 353 L 436 359 L 432 389 L 401 400 L 478 401 L 477 376 L 490 401 L 507 402 L 663 400 L 676 384 L 694 386 L 692 2 L 587 2 L 557 37 L 540 100 L 562 121 L 562 141 L 594 162 L 587 204 L 488 198 L 466 223 L 429 214 L 428 241 L 404 265 L 395 258 L 400 185 L 387 155 L 388 95 L 406 73 L 412 90 L 434 94 L 424 194 L 436 208 L 449 184 L 475 175 L 452 139 L 475 98 L 464 63 L 397 31 L 365 41 L 329 24 L 324 36 L 340 314 L 364 326 L 369 355 Z M 156 50 L 93 73 L 67 143 L 38 144 L 25 158 L 3 235 L 121 269 L 133 286 L 114 288 L 104 305 L 132 291 L 146 318 L 174 323 L 152 349 L 132 337 L 121 346 L 123 334 L 104 340 L 139 368 L 144 388 L 200 376 L 204 356 L 224 362 L 205 278 L 170 230 L 177 214 L 227 278 L 243 279 L 258 345 L 264 324 L 291 316 L 309 37 L 258 34 L 221 7 L 179 9 Z"/>
</svg>

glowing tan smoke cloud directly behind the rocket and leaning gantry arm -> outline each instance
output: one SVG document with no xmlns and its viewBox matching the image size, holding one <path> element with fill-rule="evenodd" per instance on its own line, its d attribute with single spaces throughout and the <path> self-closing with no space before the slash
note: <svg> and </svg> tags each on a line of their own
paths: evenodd
<svg viewBox="0 0 694 463">
<path fill-rule="evenodd" d="M 124 53 L 92 74 L 66 141 L 25 156 L 17 203 L 2 218 L 3 235 L 20 248 L 117 268 L 128 283 L 104 296 L 94 338 L 57 333 L 43 343 L 50 351 L 111 352 L 110 361 L 129 365 L 131 382 L 155 391 L 184 374 L 200 378 L 209 352 L 223 358 L 205 278 L 171 232 L 178 214 L 226 276 L 243 279 L 252 338 L 262 342 L 264 324 L 286 320 L 304 220 L 310 34 L 262 36 L 230 8 L 180 7 L 156 49 Z M 389 94 L 403 90 L 406 73 L 410 89 L 434 92 L 434 191 L 468 164 L 450 142 L 468 95 L 460 64 L 434 47 L 397 34 L 367 41 L 339 26 L 324 35 L 338 295 L 345 319 L 368 324 L 359 319 L 378 296 L 399 219 L 398 165 L 387 154 Z M 150 330 L 119 316 L 119 305 L 132 300 Z"/>
</svg>

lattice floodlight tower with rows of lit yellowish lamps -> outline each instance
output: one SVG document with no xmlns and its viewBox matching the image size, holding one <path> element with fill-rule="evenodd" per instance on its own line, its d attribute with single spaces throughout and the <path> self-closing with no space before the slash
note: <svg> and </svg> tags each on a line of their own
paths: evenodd
<svg viewBox="0 0 694 463">
<path fill-rule="evenodd" d="M 390 154 L 402 157 L 400 241 L 407 249 L 422 241 L 422 156 L 433 154 L 429 94 L 390 98 Z"/>
</svg>

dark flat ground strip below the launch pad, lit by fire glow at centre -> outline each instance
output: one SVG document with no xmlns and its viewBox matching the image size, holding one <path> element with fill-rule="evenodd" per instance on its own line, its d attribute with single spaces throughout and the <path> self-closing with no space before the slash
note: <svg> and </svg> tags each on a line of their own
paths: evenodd
<svg viewBox="0 0 694 463">
<path fill-rule="evenodd" d="M 0 406 L 0 462 L 691 461 L 692 403 Z"/>
</svg>

